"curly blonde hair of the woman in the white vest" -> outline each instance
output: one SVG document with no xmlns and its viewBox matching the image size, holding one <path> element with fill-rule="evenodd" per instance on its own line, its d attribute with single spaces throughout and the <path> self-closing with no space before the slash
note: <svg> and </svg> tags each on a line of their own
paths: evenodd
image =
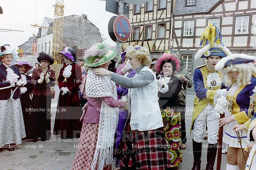
<svg viewBox="0 0 256 170">
<path fill-rule="evenodd" d="M 150 66 L 152 63 L 152 60 L 150 58 L 150 53 L 148 51 L 148 48 L 146 47 L 140 47 L 138 50 L 136 50 L 136 47 L 140 47 L 138 45 L 135 46 L 129 46 L 127 47 L 126 56 L 136 58 L 137 60 L 142 60 L 143 66 Z"/>
</svg>

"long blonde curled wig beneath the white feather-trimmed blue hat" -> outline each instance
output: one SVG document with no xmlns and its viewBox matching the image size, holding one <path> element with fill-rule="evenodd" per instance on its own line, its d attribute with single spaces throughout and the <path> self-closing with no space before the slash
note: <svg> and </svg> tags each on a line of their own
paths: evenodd
<svg viewBox="0 0 256 170">
<path fill-rule="evenodd" d="M 229 76 L 230 71 L 238 71 L 237 80 L 233 80 Z M 223 68 L 222 73 L 224 74 L 223 82 L 226 86 L 231 86 L 235 82 L 238 86 L 246 86 L 251 84 L 252 75 L 256 75 L 256 68 L 253 63 L 244 63 L 244 64 L 234 64 Z"/>
</svg>

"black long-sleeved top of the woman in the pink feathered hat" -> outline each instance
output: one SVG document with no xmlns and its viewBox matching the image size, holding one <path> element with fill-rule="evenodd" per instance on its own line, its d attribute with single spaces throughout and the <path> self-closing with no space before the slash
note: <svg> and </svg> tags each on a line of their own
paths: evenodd
<svg viewBox="0 0 256 170">
<path fill-rule="evenodd" d="M 159 107 L 163 109 L 166 107 L 177 108 L 177 98 L 182 86 L 182 81 L 180 78 L 174 75 L 171 75 L 170 78 L 171 79 L 168 83 L 169 90 L 165 93 L 158 92 Z"/>
</svg>

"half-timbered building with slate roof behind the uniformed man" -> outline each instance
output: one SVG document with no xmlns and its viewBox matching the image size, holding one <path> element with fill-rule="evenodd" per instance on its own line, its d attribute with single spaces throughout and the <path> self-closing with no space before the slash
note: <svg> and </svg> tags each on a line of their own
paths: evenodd
<svg viewBox="0 0 256 170">
<path fill-rule="evenodd" d="M 200 37 L 208 23 L 217 25 L 223 44 L 232 53 L 256 55 L 256 36 L 252 23 L 256 19 L 256 0 L 176 0 L 173 11 L 174 50 L 191 74 L 204 60 L 193 60 L 200 47 Z"/>
</svg>

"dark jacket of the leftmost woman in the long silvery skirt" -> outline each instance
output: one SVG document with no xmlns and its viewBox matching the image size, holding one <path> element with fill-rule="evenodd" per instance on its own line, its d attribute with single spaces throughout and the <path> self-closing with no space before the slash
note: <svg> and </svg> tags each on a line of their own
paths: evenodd
<svg viewBox="0 0 256 170">
<path fill-rule="evenodd" d="M 8 100 L 11 97 L 11 90 L 15 90 L 15 88 L 17 87 L 17 86 L 11 87 L 11 83 L 6 82 L 6 77 L 7 77 L 6 69 L 7 67 L 5 67 L 4 64 L 0 64 L 0 94 L 1 94 L 0 100 Z M 14 71 L 15 74 L 19 76 L 19 79 L 21 79 L 19 68 L 15 66 L 11 66 L 11 69 Z M 9 88 L 1 89 L 4 87 L 9 87 Z M 20 98 L 20 88 L 17 88 L 15 90 L 12 98 L 13 99 Z"/>
</svg>

